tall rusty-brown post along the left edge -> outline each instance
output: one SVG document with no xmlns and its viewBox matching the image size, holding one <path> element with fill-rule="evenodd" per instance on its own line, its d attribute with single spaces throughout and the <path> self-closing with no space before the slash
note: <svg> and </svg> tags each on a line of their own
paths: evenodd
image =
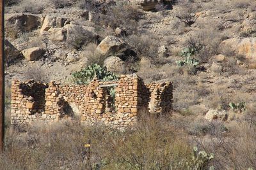
<svg viewBox="0 0 256 170">
<path fill-rule="evenodd" d="M 4 149 L 4 0 L 0 0 L 0 152 Z"/>
</svg>

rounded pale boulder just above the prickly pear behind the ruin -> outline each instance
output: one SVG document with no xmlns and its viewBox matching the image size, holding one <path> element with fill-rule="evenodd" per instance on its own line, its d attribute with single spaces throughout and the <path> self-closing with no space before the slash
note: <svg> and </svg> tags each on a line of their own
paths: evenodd
<svg viewBox="0 0 256 170">
<path fill-rule="evenodd" d="M 111 56 L 104 60 L 104 66 L 107 67 L 108 71 L 113 73 L 123 73 L 124 72 L 124 61 L 119 57 Z"/>
</svg>

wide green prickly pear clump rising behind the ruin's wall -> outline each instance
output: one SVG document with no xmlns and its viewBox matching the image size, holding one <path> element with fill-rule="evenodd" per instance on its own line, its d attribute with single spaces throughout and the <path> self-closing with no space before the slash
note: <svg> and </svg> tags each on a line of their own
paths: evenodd
<svg viewBox="0 0 256 170">
<path fill-rule="evenodd" d="M 87 66 L 81 71 L 72 73 L 72 81 L 77 84 L 88 84 L 93 80 L 93 78 L 97 78 L 102 81 L 118 80 L 118 76 L 107 71 L 106 67 L 101 67 L 98 64 Z"/>
</svg>

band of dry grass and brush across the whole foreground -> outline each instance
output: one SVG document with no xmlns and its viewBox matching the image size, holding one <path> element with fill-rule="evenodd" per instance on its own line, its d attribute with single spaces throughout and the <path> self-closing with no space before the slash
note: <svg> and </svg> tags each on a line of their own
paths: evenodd
<svg viewBox="0 0 256 170">
<path fill-rule="evenodd" d="M 83 145 L 88 139 L 92 141 L 93 169 L 195 168 L 193 146 L 215 155 L 200 169 L 256 166 L 256 127 L 246 122 L 207 122 L 195 115 L 158 119 L 142 115 L 137 125 L 125 131 L 68 121 L 51 126 L 38 122 L 25 131 L 8 129 L 5 152 L 0 156 L 4 169 L 86 169 L 88 152 Z"/>
</svg>

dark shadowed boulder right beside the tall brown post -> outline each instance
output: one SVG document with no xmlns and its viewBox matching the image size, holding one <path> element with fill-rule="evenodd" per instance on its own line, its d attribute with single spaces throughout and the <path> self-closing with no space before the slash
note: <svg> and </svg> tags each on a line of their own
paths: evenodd
<svg viewBox="0 0 256 170">
<path fill-rule="evenodd" d="M 16 59 L 19 57 L 19 53 L 19 50 L 17 50 L 17 48 L 15 48 L 10 41 L 7 39 L 4 40 L 4 55 L 7 61 Z"/>
</svg>

